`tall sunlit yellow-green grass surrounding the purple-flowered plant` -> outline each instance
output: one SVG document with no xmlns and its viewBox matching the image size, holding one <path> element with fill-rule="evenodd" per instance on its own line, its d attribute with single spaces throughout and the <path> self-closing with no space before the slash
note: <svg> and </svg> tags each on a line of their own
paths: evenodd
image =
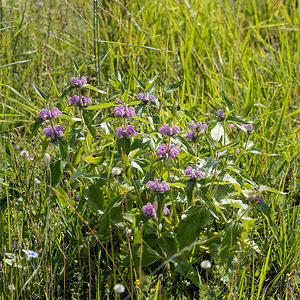
<svg viewBox="0 0 300 300">
<path fill-rule="evenodd" d="M 0 299 L 117 299 L 112 288 L 122 278 L 134 298 L 160 299 L 160 293 L 162 299 L 206 297 L 206 276 L 201 270 L 199 287 L 190 278 L 174 275 L 172 264 L 166 264 L 163 271 L 155 271 L 158 263 L 141 271 L 132 257 L 138 252 L 130 254 L 143 241 L 139 224 L 130 223 L 134 230 L 131 241 L 130 234 L 124 234 L 129 221 L 121 218 L 123 227 L 111 225 L 108 213 L 110 227 L 103 233 L 99 228 L 102 216 L 85 205 L 80 207 L 84 190 L 102 182 L 93 178 L 72 181 L 76 170 L 84 167 L 89 175 L 99 175 L 116 163 L 127 164 L 115 151 L 111 132 L 100 127 L 108 110 L 92 111 L 97 114 L 93 124 L 103 139 L 86 134 L 84 146 L 70 151 L 59 185 L 49 188 L 53 184 L 49 178 L 55 178 L 50 173 L 57 168 L 49 170 L 43 164 L 42 134 L 29 137 L 45 102 L 50 106 L 57 103 L 78 70 L 89 83 L 107 92 L 89 91 L 95 105 L 113 102 L 120 90 L 123 100 L 134 100 L 141 91 L 134 76 L 145 84 L 160 75 L 168 84 L 185 79 L 179 89 L 168 94 L 157 84 L 155 95 L 169 104 L 168 115 L 158 112 L 161 124 L 174 120 L 187 128 L 186 117 L 179 115 L 179 110 L 207 121 L 228 102 L 232 103 L 232 115 L 253 121 L 251 140 L 257 154 L 244 152 L 235 163 L 259 186 L 281 192 L 265 193 L 272 220 L 249 213 L 255 221 L 247 225 L 239 240 L 242 250 L 235 249 L 238 263 L 230 272 L 219 258 L 222 254 L 214 253 L 211 245 L 195 246 L 188 259 L 191 265 L 204 258 L 214 262 L 209 274 L 210 299 L 299 298 L 300 8 L 296 0 L 0 0 L 0 7 L 0 259 L 5 252 L 16 259 L 27 245 L 41 249 L 41 259 L 30 261 L 27 268 L 2 264 Z M 116 79 L 119 77 L 123 77 L 122 84 Z M 47 101 L 37 95 L 34 85 L 49 94 Z M 82 118 L 66 101 L 60 106 L 70 116 Z M 171 110 L 177 113 L 172 115 Z M 64 122 L 69 129 L 75 126 L 69 119 Z M 88 122 L 85 119 L 87 132 Z M 116 124 L 107 123 L 108 127 Z M 147 123 L 138 124 L 135 121 L 143 130 L 155 130 Z M 22 149 L 36 155 L 34 163 L 19 158 Z M 51 145 L 47 151 L 55 161 L 59 155 L 56 147 Z M 105 159 L 96 166 L 82 160 L 100 153 Z M 183 162 L 189 159 L 181 158 Z M 139 174 L 135 172 L 124 173 L 122 188 Z M 34 177 L 41 181 L 38 189 Z M 130 209 L 135 208 L 132 202 L 144 200 L 137 184 L 136 198 L 128 195 Z M 218 188 L 215 182 L 211 187 Z M 108 206 L 119 188 L 116 183 L 102 185 Z M 176 195 L 171 194 L 172 203 Z M 185 206 L 179 205 L 184 211 Z M 225 214 L 229 222 L 230 212 Z M 207 229 L 209 233 L 217 231 Z M 140 294 L 136 280 L 142 282 Z M 9 284 L 14 284 L 14 291 L 8 290 Z"/>
</svg>

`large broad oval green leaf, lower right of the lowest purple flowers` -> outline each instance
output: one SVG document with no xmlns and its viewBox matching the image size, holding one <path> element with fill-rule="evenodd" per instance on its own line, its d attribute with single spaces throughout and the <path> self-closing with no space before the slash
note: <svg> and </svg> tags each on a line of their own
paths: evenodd
<svg viewBox="0 0 300 300">
<path fill-rule="evenodd" d="M 180 221 L 176 233 L 180 249 L 195 242 L 201 229 L 205 227 L 211 219 L 209 210 L 200 206 L 191 207 L 185 215 L 186 218 Z"/>
</svg>

